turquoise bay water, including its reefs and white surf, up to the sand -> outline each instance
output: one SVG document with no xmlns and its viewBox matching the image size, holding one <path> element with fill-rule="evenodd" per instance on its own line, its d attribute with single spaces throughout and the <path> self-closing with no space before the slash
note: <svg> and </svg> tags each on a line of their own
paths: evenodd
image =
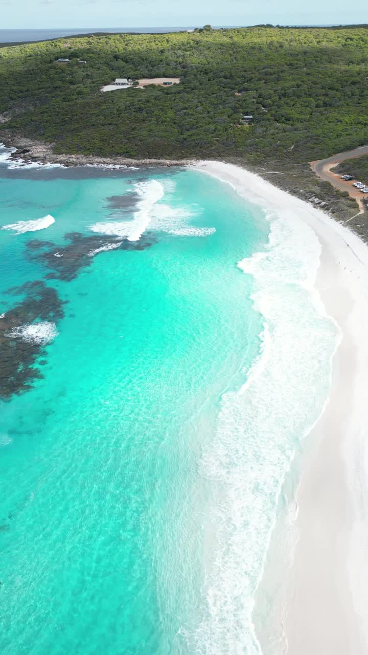
<svg viewBox="0 0 368 655">
<path fill-rule="evenodd" d="M 336 343 L 318 242 L 194 170 L 3 149 L 0 199 L 1 652 L 259 652 L 278 493 Z"/>
</svg>

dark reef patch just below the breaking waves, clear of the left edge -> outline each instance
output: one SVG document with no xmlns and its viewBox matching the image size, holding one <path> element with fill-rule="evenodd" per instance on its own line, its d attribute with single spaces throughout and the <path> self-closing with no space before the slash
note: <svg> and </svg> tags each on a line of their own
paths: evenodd
<svg viewBox="0 0 368 655">
<path fill-rule="evenodd" d="M 27 243 L 29 257 L 37 259 L 51 269 L 52 272 L 45 276 L 47 280 L 57 279 L 67 282 L 73 280 L 77 277 L 79 269 L 90 266 L 96 255 L 105 252 L 100 250 L 101 248 L 116 246 L 116 250 L 145 250 L 153 244 L 153 239 L 149 238 L 149 235 L 143 235 L 139 241 L 132 242 L 117 236 L 101 234 L 84 236 L 79 232 L 70 232 L 65 234 L 65 239 L 69 243 L 64 246 L 56 246 L 50 241 L 38 239 L 32 239 Z"/>
</svg>

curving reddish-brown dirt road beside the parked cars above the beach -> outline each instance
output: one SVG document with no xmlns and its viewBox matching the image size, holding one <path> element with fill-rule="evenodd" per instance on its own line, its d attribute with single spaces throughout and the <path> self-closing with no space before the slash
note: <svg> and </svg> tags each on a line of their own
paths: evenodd
<svg viewBox="0 0 368 655">
<path fill-rule="evenodd" d="M 315 162 L 310 162 L 310 167 L 319 178 L 330 182 L 334 187 L 340 189 L 340 191 L 347 191 L 350 197 L 358 202 L 360 214 L 363 214 L 365 207 L 359 189 L 356 189 L 356 187 L 353 186 L 355 179 L 347 182 L 344 179 L 341 179 L 340 175 L 337 173 L 333 173 L 331 168 L 335 168 L 337 164 L 343 162 L 345 159 L 356 159 L 356 157 L 362 157 L 363 155 L 368 155 L 368 145 L 361 145 L 361 147 L 355 148 L 354 150 L 348 150 L 346 153 L 337 153 L 337 155 L 327 157 L 327 159 L 319 159 Z M 361 181 L 365 182 L 363 179 Z M 366 182 L 368 185 L 368 179 Z"/>
</svg>

